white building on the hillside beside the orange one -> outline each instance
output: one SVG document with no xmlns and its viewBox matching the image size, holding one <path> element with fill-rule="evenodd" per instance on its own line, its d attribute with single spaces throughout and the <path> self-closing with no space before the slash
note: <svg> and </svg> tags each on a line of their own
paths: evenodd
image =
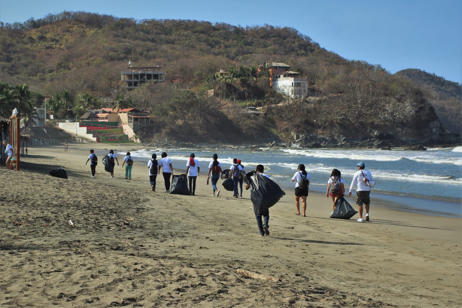
<svg viewBox="0 0 462 308">
<path fill-rule="evenodd" d="M 300 77 L 300 73 L 293 71 L 275 75 L 273 89 L 292 98 L 301 98 L 308 94 L 306 77 Z"/>
</svg>

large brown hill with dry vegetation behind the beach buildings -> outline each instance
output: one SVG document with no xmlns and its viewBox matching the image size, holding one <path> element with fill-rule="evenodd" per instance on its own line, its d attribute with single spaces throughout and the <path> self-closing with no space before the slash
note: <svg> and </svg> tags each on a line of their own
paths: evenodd
<svg viewBox="0 0 462 308">
<path fill-rule="evenodd" d="M 58 117 L 89 106 L 137 106 L 155 116 L 155 138 L 345 147 L 460 142 L 439 123 L 432 91 L 379 65 L 348 61 L 292 28 L 62 12 L 0 23 L 0 44 L 0 80 L 51 96 Z M 165 82 L 125 92 L 120 72 L 128 61 L 162 67 Z M 257 69 L 269 62 L 305 76 L 309 96 L 274 92 L 267 71 Z M 228 76 L 217 76 L 219 69 Z"/>
</svg>

